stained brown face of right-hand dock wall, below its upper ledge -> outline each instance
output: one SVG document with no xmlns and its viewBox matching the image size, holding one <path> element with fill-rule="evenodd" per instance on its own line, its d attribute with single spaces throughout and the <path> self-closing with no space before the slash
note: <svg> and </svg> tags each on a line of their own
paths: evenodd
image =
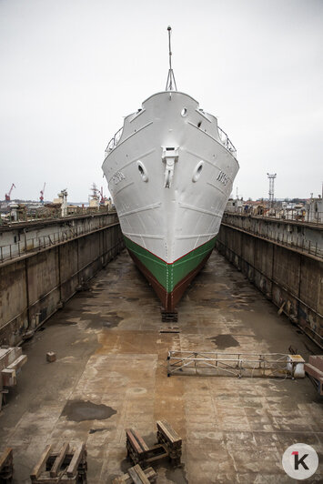
<svg viewBox="0 0 323 484">
<path fill-rule="evenodd" d="M 288 318 L 322 344 L 323 260 L 222 224 L 217 250 Z"/>
</svg>

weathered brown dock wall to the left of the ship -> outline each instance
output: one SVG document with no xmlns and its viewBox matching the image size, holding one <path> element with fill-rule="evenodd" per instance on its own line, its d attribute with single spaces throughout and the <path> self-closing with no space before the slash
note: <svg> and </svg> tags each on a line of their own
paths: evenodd
<svg viewBox="0 0 323 484">
<path fill-rule="evenodd" d="M 83 223 L 86 233 L 75 231 L 74 237 L 40 244 L 0 263 L 0 346 L 16 345 L 31 336 L 123 249 L 116 214 L 104 220 L 86 217 Z M 82 225 L 82 220 L 77 224 Z M 53 231 L 53 224 L 49 226 Z"/>
</svg>

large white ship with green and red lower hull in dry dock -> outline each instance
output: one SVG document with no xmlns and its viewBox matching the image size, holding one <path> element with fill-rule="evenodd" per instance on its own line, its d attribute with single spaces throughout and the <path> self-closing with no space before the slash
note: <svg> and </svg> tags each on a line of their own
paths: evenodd
<svg viewBox="0 0 323 484">
<path fill-rule="evenodd" d="M 129 255 L 164 314 L 175 315 L 215 247 L 239 166 L 217 117 L 177 90 L 167 30 L 166 89 L 125 117 L 106 146 L 102 169 Z"/>
</svg>

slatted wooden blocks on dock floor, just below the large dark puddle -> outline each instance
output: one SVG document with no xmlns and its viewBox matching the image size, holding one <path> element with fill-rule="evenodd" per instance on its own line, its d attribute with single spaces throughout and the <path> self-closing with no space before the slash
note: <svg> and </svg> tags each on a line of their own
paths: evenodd
<svg viewBox="0 0 323 484">
<path fill-rule="evenodd" d="M 86 483 L 86 470 L 85 442 L 76 446 L 76 449 L 70 449 L 66 442 L 58 452 L 52 452 L 50 444 L 35 465 L 30 479 L 37 484 Z"/>
</svg>

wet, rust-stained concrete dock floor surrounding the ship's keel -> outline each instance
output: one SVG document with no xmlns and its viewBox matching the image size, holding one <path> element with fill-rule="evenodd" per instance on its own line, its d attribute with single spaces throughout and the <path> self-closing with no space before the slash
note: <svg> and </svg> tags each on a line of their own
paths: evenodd
<svg viewBox="0 0 323 484">
<path fill-rule="evenodd" d="M 83 439 L 89 482 L 111 482 L 130 467 L 126 427 L 153 444 L 158 418 L 184 442 L 183 468 L 159 465 L 158 483 L 291 482 L 280 462 L 295 442 L 317 449 L 311 481 L 323 478 L 322 403 L 308 378 L 167 378 L 168 349 L 285 353 L 292 344 L 308 359 L 314 344 L 217 253 L 178 309 L 176 325 L 161 323 L 153 290 L 123 252 L 24 345 L 28 363 L 0 414 L 16 482 L 28 482 L 46 443 Z M 180 332 L 159 332 L 168 326 Z"/>
</svg>

